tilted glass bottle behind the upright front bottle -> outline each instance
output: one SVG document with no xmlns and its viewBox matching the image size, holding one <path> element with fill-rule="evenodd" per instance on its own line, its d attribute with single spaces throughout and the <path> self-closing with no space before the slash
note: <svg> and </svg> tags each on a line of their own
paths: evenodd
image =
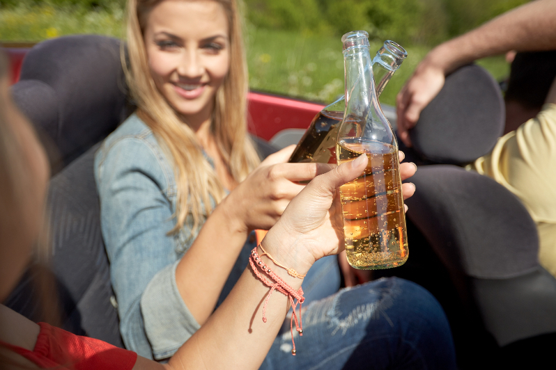
<svg viewBox="0 0 556 370">
<path fill-rule="evenodd" d="M 376 52 L 371 65 L 377 81 L 377 95 L 383 92 L 386 84 L 407 56 L 408 53 L 403 47 L 390 40 L 385 41 L 383 47 Z M 346 99 L 342 96 L 318 112 L 291 154 L 290 163 L 336 163 L 336 138 L 345 108 Z"/>
</svg>

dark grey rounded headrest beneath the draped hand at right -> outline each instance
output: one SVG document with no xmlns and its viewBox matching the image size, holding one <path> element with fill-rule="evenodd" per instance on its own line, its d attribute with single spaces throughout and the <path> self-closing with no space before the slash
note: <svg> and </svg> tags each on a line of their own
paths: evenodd
<svg viewBox="0 0 556 370">
<path fill-rule="evenodd" d="M 409 134 L 423 159 L 461 165 L 490 152 L 504 122 L 500 86 L 482 67 L 466 65 L 446 77 Z"/>
</svg>

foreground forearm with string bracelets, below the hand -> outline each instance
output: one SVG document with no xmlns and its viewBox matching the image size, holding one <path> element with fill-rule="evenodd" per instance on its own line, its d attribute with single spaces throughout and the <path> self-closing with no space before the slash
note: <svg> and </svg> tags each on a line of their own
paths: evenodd
<svg viewBox="0 0 556 370">
<path fill-rule="evenodd" d="M 287 247 L 282 247 L 286 246 L 269 243 L 266 249 L 267 252 L 272 250 L 271 255 L 284 263 L 289 252 L 286 252 Z M 282 254 L 282 251 L 286 253 Z M 261 250 L 258 252 L 260 254 Z M 284 268 L 276 266 L 266 256 L 261 259 L 293 289 L 301 287 L 302 279 L 288 275 Z M 301 261 L 288 265 L 300 273 L 307 272 L 304 270 L 306 266 L 311 265 Z M 183 364 L 191 369 L 258 369 L 288 311 L 288 298 L 274 291 L 266 307 L 267 322 L 263 322 L 263 307 L 269 290 L 247 267 L 224 303 L 171 358 L 169 365 L 173 369 L 180 369 Z"/>
</svg>

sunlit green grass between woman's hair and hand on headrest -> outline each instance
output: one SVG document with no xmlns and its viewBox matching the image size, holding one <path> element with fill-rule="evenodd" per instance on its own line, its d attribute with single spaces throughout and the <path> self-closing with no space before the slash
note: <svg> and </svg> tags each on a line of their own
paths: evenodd
<svg viewBox="0 0 556 370">
<path fill-rule="evenodd" d="M 254 90 L 330 103 L 343 94 L 341 41 L 334 37 L 251 29 L 248 33 L 249 85 Z M 382 42 L 371 42 L 374 54 Z M 394 104 L 396 93 L 428 51 L 408 48 L 408 58 L 380 100 Z"/>
</svg>

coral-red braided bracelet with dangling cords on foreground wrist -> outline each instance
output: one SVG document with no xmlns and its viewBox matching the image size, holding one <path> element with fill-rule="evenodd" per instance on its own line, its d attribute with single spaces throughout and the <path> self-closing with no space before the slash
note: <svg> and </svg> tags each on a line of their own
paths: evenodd
<svg viewBox="0 0 556 370">
<path fill-rule="evenodd" d="M 249 256 L 249 264 L 251 264 L 251 268 L 255 273 L 256 277 L 263 282 L 267 287 L 270 287 L 270 291 L 268 292 L 268 296 L 266 296 L 265 305 L 263 306 L 263 322 L 266 322 L 266 305 L 268 304 L 268 299 L 270 298 L 270 294 L 272 291 L 279 291 L 280 293 L 287 296 L 290 300 L 291 307 L 293 308 L 293 314 L 291 315 L 290 321 L 290 332 L 291 332 L 291 343 L 293 344 L 293 349 L 291 350 L 291 354 L 295 356 L 295 341 L 293 341 L 293 322 L 295 321 L 295 329 L 298 330 L 300 337 L 303 336 L 303 324 L 301 321 L 301 306 L 305 300 L 303 296 L 303 289 L 300 288 L 298 291 L 295 291 L 292 287 L 290 287 L 284 280 L 282 280 L 278 275 L 274 273 L 270 269 L 270 267 L 266 266 L 261 258 L 258 257 L 257 247 L 253 248 L 251 252 L 251 256 Z M 266 273 L 275 283 L 269 282 L 266 280 L 261 273 L 257 271 L 257 268 L 260 268 L 264 273 Z M 293 298 L 297 300 L 297 302 L 293 303 Z M 295 308 L 298 306 L 299 303 L 299 322 L 298 316 L 295 314 Z"/>
</svg>

